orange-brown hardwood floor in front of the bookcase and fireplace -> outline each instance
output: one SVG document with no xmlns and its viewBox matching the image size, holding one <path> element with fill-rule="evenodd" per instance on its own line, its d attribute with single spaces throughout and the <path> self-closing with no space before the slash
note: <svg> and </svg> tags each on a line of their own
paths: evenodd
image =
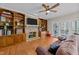
<svg viewBox="0 0 79 59">
<path fill-rule="evenodd" d="M 48 48 L 57 39 L 53 37 L 40 38 L 33 41 L 22 42 L 15 45 L 0 47 L 1 55 L 36 55 L 36 48 L 42 46 Z"/>
</svg>

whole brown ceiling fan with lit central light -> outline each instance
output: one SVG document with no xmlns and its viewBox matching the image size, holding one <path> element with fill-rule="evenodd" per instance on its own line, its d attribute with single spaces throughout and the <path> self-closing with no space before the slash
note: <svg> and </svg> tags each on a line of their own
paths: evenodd
<svg viewBox="0 0 79 59">
<path fill-rule="evenodd" d="M 44 10 L 42 11 L 39 11 L 39 12 L 46 12 L 46 15 L 49 13 L 49 12 L 57 12 L 57 10 L 53 10 L 54 8 L 58 7 L 60 4 L 59 3 L 56 3 L 55 5 L 53 6 L 49 6 L 47 4 L 42 4 L 42 7 L 44 8 Z"/>
</svg>

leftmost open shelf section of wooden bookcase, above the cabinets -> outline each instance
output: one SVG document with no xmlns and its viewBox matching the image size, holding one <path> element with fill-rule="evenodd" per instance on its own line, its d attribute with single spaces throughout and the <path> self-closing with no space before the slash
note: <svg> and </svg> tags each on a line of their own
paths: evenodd
<svg viewBox="0 0 79 59">
<path fill-rule="evenodd" d="M 13 13 L 9 10 L 1 8 L 0 8 L 0 33 L 2 34 L 2 36 L 13 34 Z"/>
</svg>

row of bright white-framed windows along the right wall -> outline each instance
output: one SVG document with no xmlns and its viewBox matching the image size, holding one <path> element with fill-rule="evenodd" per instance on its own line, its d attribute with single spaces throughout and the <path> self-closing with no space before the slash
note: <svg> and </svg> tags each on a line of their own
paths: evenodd
<svg viewBox="0 0 79 59">
<path fill-rule="evenodd" d="M 54 36 L 79 34 L 79 20 L 62 21 L 53 23 Z"/>
</svg>

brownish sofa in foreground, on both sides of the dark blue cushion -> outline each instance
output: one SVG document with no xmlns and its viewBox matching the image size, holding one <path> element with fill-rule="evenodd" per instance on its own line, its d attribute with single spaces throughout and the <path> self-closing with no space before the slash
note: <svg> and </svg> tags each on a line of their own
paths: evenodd
<svg viewBox="0 0 79 59">
<path fill-rule="evenodd" d="M 78 44 L 78 36 L 71 35 L 61 43 L 60 47 L 56 51 L 56 55 L 78 55 Z M 52 55 L 48 51 L 48 48 L 44 47 L 37 47 L 36 53 L 37 55 Z"/>
</svg>

